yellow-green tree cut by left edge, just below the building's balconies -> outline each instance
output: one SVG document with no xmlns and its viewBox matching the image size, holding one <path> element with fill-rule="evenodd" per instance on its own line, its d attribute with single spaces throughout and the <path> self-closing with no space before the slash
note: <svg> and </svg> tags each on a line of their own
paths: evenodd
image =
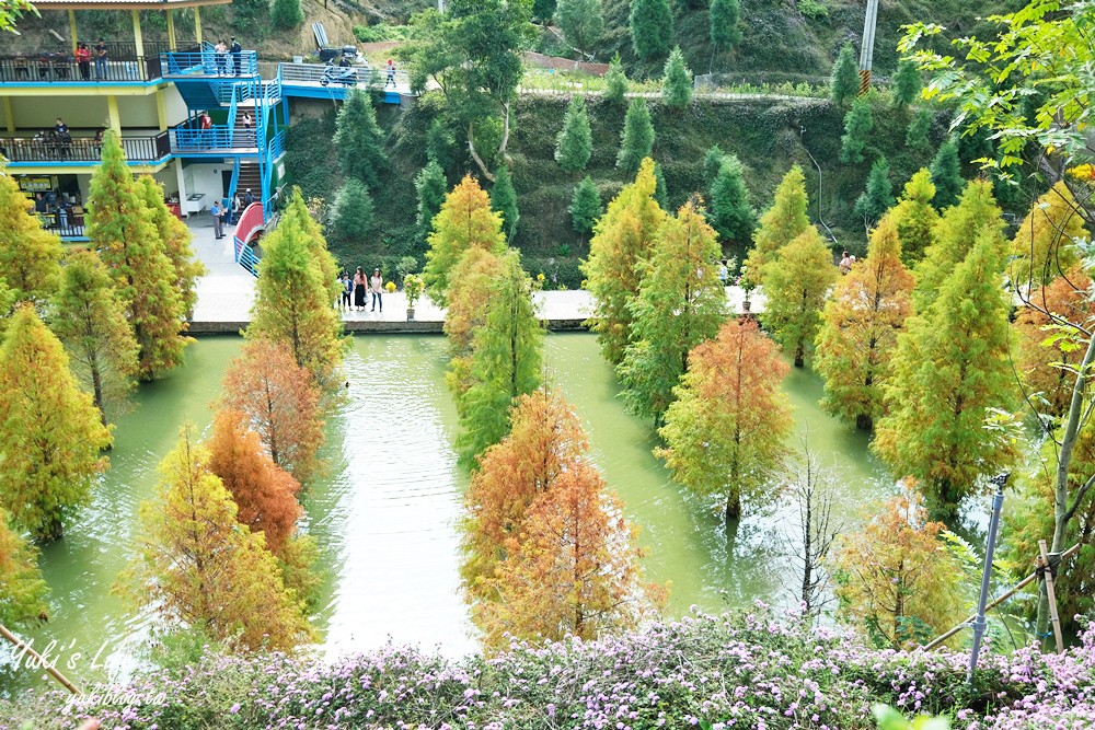
<svg viewBox="0 0 1095 730">
<path fill-rule="evenodd" d="M 34 206 L 5 170 L 0 157 L 0 279 L 14 302 L 39 302 L 57 287 L 61 241 L 42 228 Z"/>
</svg>

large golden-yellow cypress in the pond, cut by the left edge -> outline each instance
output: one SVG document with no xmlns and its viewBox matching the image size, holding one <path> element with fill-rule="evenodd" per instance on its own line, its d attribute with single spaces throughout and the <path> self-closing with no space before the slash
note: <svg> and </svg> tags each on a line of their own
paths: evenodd
<svg viewBox="0 0 1095 730">
<path fill-rule="evenodd" d="M 57 540 L 91 500 L 111 433 L 34 309 L 16 310 L 0 347 L 0 507 L 38 542 Z"/>
</svg>

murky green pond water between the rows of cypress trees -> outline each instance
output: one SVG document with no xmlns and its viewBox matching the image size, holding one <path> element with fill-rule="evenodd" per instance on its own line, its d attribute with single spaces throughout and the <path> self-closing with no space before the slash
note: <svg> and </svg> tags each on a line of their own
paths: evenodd
<svg viewBox="0 0 1095 730">
<path fill-rule="evenodd" d="M 42 554 L 51 589 L 48 624 L 23 633 L 37 649 L 56 642 L 50 660 L 78 683 L 124 677 L 138 664 L 148 616 L 126 611 L 110 591 L 131 555 L 138 505 L 157 488 L 157 465 L 185 421 L 208 431 L 235 337 L 193 345 L 184 367 L 141 387 L 138 408 L 120 419 L 111 470 L 92 505 Z M 641 528 L 649 580 L 671 582 L 668 611 L 708 611 L 763 600 L 795 605 L 788 540 L 797 510 L 789 502 L 748 515 L 728 537 L 712 502 L 673 486 L 650 453 L 648 422 L 616 397 L 611 368 L 588 334 L 552 334 L 545 359 L 555 387 L 574 405 L 592 459 L 626 515 Z M 459 595 L 456 523 L 468 477 L 452 440 L 457 416 L 445 387 L 446 340 L 423 336 L 358 336 L 346 362 L 348 397 L 330 418 L 327 474 L 304 497 L 307 530 L 321 548 L 323 595 L 313 622 L 320 651 L 335 657 L 385 641 L 474 651 L 475 636 Z M 820 382 L 794 371 L 785 389 L 795 408 L 795 445 L 832 466 L 841 484 L 839 517 L 853 523 L 892 483 L 868 453 L 867 439 L 817 405 Z M 0 691 L 41 682 L 24 667 L 0 671 Z"/>
</svg>

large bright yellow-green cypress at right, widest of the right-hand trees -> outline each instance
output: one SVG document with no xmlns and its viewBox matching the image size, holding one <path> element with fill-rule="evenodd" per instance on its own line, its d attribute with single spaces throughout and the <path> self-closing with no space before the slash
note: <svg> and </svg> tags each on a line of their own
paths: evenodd
<svg viewBox="0 0 1095 730">
<path fill-rule="evenodd" d="M 999 232 L 983 229 L 938 298 L 898 338 L 886 391 L 890 415 L 873 444 L 896 474 L 919 479 L 950 509 L 1015 454 L 1007 433 L 987 428 L 1014 399 L 1002 275 Z"/>
</svg>

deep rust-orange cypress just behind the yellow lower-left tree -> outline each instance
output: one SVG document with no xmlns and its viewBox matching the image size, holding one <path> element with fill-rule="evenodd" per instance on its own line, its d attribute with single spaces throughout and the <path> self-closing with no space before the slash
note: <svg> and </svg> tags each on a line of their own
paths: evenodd
<svg viewBox="0 0 1095 730">
<path fill-rule="evenodd" d="M 217 414 L 207 445 L 209 471 L 220 477 L 239 507 L 235 519 L 266 535 L 269 552 L 280 553 L 303 514 L 297 502 L 300 483 L 274 463 L 237 410 Z"/>
</svg>

